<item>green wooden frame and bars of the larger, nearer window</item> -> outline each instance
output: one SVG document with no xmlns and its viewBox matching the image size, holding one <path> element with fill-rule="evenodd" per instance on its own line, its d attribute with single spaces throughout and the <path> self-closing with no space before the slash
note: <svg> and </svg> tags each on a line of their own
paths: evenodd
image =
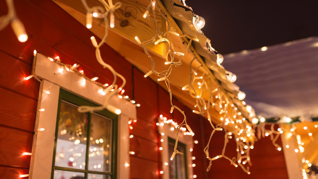
<svg viewBox="0 0 318 179">
<path fill-rule="evenodd" d="M 54 170 L 63 170 L 63 171 L 73 171 L 73 172 L 81 172 L 84 173 L 84 178 L 88 177 L 88 174 L 102 174 L 102 175 L 108 175 L 111 176 L 111 178 L 116 178 L 117 174 L 117 127 L 118 127 L 118 115 L 109 112 L 108 110 L 102 110 L 98 112 L 94 112 L 96 114 L 100 114 L 104 117 L 107 117 L 112 120 L 112 148 L 111 148 L 111 172 L 99 172 L 99 171 L 92 171 L 88 169 L 88 154 L 89 154 L 89 141 L 86 140 L 86 154 L 85 154 L 85 169 L 72 169 L 72 168 L 65 168 L 65 167 L 58 167 L 55 166 L 55 157 L 56 157 L 56 147 L 57 147 L 57 139 L 58 139 L 58 130 L 59 130 L 59 114 L 60 114 L 60 106 L 61 101 L 66 101 L 68 103 L 74 104 L 76 106 L 100 106 L 97 105 L 91 101 L 85 100 L 73 93 L 67 92 L 63 89 L 60 89 L 59 91 L 59 104 L 58 104 L 58 110 L 57 110 L 57 120 L 56 120 L 56 130 L 55 130 L 55 140 L 54 140 L 54 149 L 53 149 L 53 160 L 52 160 L 52 172 L 51 172 L 51 178 L 54 177 Z M 88 114 L 88 123 L 87 128 L 90 129 L 90 123 L 91 123 L 91 114 Z M 90 137 L 90 130 L 87 130 L 87 139 Z"/>
</svg>

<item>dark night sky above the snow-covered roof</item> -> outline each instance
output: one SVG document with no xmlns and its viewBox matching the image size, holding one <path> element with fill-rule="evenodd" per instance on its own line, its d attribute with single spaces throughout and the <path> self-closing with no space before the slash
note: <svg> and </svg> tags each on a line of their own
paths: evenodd
<svg viewBox="0 0 318 179">
<path fill-rule="evenodd" d="M 318 36 L 318 0 L 186 0 L 221 54 Z"/>
</svg>

